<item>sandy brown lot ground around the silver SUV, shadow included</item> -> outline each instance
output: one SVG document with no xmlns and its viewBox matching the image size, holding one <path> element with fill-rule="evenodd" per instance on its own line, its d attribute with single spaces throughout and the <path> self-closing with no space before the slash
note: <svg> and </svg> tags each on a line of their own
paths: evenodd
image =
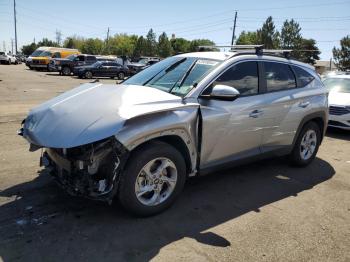
<svg viewBox="0 0 350 262">
<path fill-rule="evenodd" d="M 329 130 L 307 168 L 274 159 L 194 178 L 139 219 L 66 195 L 16 135 L 28 109 L 82 82 L 0 65 L 0 261 L 350 261 L 349 132 Z"/>
</svg>

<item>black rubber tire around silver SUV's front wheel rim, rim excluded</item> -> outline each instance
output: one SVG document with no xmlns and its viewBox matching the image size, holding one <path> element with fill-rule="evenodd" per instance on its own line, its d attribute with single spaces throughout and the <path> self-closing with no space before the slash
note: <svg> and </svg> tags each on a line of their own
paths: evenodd
<svg viewBox="0 0 350 262">
<path fill-rule="evenodd" d="M 177 181 L 174 190 L 164 202 L 154 206 L 145 205 L 136 196 L 136 179 L 147 163 L 160 157 L 170 159 L 175 164 Z M 150 142 L 132 152 L 129 159 L 119 184 L 119 201 L 122 206 L 129 212 L 143 217 L 160 213 L 170 207 L 181 193 L 186 181 L 186 164 L 180 152 L 167 143 Z"/>
</svg>

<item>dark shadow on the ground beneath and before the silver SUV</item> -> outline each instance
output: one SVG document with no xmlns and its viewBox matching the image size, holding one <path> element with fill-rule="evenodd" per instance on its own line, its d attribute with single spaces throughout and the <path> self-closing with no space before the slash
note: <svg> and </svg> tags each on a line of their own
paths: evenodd
<svg viewBox="0 0 350 262">
<path fill-rule="evenodd" d="M 282 160 L 282 161 L 281 161 Z M 0 257 L 3 261 L 149 261 L 183 238 L 232 246 L 211 228 L 276 201 L 297 197 L 335 171 L 320 158 L 306 168 L 265 160 L 188 180 L 165 212 L 136 218 L 119 204 L 68 196 L 47 174 L 0 192 Z"/>
</svg>

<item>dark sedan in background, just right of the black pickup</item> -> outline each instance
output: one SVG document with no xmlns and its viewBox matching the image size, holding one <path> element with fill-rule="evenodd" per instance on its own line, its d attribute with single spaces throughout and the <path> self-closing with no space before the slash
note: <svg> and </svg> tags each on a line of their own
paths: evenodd
<svg viewBox="0 0 350 262">
<path fill-rule="evenodd" d="M 123 80 L 128 75 L 129 69 L 117 62 L 98 61 L 88 66 L 78 66 L 74 68 L 74 75 L 79 78 L 92 78 L 94 76 L 118 77 Z"/>
</svg>

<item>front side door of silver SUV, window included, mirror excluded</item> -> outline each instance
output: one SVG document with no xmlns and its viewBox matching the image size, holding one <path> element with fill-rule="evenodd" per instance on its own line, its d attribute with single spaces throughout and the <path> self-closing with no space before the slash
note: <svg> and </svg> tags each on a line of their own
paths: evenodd
<svg viewBox="0 0 350 262">
<path fill-rule="evenodd" d="M 199 98 L 202 115 L 201 169 L 260 153 L 264 114 L 259 94 L 258 63 L 231 66 L 204 92 L 217 85 L 236 88 L 234 101 Z"/>
</svg>

